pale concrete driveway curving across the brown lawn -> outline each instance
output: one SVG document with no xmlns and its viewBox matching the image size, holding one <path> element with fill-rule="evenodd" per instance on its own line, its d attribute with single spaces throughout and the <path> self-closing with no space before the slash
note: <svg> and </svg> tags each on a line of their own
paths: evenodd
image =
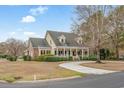
<svg viewBox="0 0 124 93">
<path fill-rule="evenodd" d="M 82 63 L 89 63 L 93 61 L 87 61 L 87 62 L 68 62 L 68 63 L 63 63 L 60 64 L 60 67 L 74 70 L 80 73 L 87 73 L 87 74 L 108 74 L 108 73 L 114 73 L 116 71 L 110 71 L 110 70 L 103 70 L 103 69 L 96 69 L 96 68 L 90 68 L 90 67 L 85 67 L 81 66 L 80 64 Z"/>
</svg>

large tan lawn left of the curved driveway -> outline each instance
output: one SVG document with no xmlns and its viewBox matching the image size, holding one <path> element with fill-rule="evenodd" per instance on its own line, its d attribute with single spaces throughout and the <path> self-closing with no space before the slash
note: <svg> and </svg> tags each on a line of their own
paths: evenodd
<svg viewBox="0 0 124 93">
<path fill-rule="evenodd" d="M 62 62 L 0 62 L 0 79 L 12 77 L 19 80 L 62 78 L 84 74 L 59 67 Z"/>
</svg>

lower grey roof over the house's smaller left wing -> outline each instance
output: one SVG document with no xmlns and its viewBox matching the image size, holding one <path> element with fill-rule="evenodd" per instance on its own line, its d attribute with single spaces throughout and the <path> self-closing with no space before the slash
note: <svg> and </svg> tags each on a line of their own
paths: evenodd
<svg viewBox="0 0 124 93">
<path fill-rule="evenodd" d="M 47 41 L 43 38 L 29 38 L 32 47 L 50 47 Z"/>
</svg>

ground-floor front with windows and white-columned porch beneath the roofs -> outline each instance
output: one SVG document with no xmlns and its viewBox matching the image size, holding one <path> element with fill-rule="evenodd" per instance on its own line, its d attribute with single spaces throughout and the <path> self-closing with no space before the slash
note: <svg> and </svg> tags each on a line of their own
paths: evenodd
<svg viewBox="0 0 124 93">
<path fill-rule="evenodd" d="M 40 55 L 55 55 L 62 57 L 88 57 L 89 56 L 89 48 L 86 47 L 56 47 L 56 48 L 47 48 L 47 47 L 39 47 L 39 56 Z"/>
</svg>

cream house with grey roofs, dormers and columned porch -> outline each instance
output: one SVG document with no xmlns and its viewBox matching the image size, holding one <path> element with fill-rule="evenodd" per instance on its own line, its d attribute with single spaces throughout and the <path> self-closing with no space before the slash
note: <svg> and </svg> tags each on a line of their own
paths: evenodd
<svg viewBox="0 0 124 93">
<path fill-rule="evenodd" d="M 52 54 L 55 56 L 89 56 L 82 38 L 74 33 L 47 31 L 45 38 L 29 38 L 26 55 L 36 57 Z"/>
</svg>

